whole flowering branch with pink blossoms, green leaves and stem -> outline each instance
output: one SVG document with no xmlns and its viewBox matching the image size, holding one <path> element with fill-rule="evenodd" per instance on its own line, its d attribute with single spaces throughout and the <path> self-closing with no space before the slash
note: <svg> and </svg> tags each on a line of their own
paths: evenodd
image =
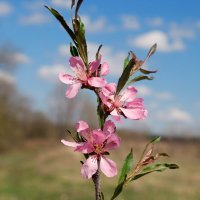
<svg viewBox="0 0 200 200">
<path fill-rule="evenodd" d="M 101 62 L 102 56 L 99 46 L 95 60 L 89 62 L 87 42 L 85 37 L 84 23 L 78 15 L 83 0 L 71 0 L 71 9 L 76 5 L 75 16 L 72 18 L 72 28 L 66 23 L 63 16 L 55 9 L 45 6 L 60 22 L 65 31 L 70 36 L 71 57 L 69 59 L 70 68 L 74 75 L 60 73 L 59 79 L 64 84 L 69 85 L 66 97 L 74 98 L 79 89 L 92 90 L 97 97 L 97 116 L 99 128 L 91 130 L 87 122 L 78 121 L 75 124 L 77 133 L 72 136 L 73 142 L 61 140 L 65 146 L 72 147 L 74 151 L 80 152 L 85 157 L 82 162 L 81 175 L 84 178 L 92 178 L 95 186 L 95 199 L 103 200 L 103 193 L 100 188 L 100 174 L 103 172 L 107 177 L 117 175 L 117 166 L 113 160 L 107 158 L 109 151 L 120 146 L 121 139 L 116 133 L 116 126 L 109 116 L 115 121 L 120 121 L 121 117 L 132 120 L 143 120 L 147 117 L 147 109 L 143 99 L 138 98 L 137 89 L 130 84 L 141 80 L 152 80 L 149 74 L 156 73 L 157 70 L 146 70 L 142 68 L 145 62 L 155 53 L 157 45 L 154 44 L 146 58 L 140 60 L 130 51 L 124 60 L 124 67 L 121 76 L 115 83 L 107 83 L 104 76 L 109 73 L 107 62 Z M 136 73 L 140 73 L 135 76 Z M 127 155 L 124 165 L 120 171 L 118 183 L 111 197 L 114 200 L 124 189 L 124 187 L 152 172 L 162 172 L 165 169 L 176 169 L 176 164 L 156 163 L 161 156 L 168 156 L 165 153 L 153 155 L 154 145 L 160 141 L 160 137 L 150 141 L 145 147 L 141 158 L 134 165 L 132 149 Z"/>
</svg>

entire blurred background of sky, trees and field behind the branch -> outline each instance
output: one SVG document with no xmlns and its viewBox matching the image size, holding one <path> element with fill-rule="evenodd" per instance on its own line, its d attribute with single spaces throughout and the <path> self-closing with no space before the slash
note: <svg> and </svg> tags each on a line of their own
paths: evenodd
<svg viewBox="0 0 200 200">
<path fill-rule="evenodd" d="M 43 6 L 70 23 L 70 4 L 0 0 L 0 200 L 93 199 L 92 183 L 80 177 L 82 156 L 60 139 L 68 138 L 66 130 L 74 131 L 77 120 L 97 126 L 96 99 L 86 90 L 65 98 L 58 73 L 69 71 L 70 40 Z M 88 0 L 80 9 L 89 58 L 103 44 L 109 82 L 117 82 L 128 51 L 144 59 L 158 44 L 145 65 L 158 69 L 155 79 L 135 84 L 148 119 L 118 124 L 123 142 L 111 157 L 120 168 L 132 147 L 136 161 L 148 139 L 161 135 L 157 150 L 180 169 L 138 180 L 119 199 L 200 199 L 199 8 L 197 0 Z M 117 179 L 104 179 L 108 198 Z"/>
</svg>

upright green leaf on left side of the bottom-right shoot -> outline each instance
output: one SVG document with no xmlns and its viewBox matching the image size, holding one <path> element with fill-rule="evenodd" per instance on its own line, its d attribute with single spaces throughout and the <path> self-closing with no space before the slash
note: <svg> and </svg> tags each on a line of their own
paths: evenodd
<svg viewBox="0 0 200 200">
<path fill-rule="evenodd" d="M 126 178 L 127 174 L 129 173 L 129 171 L 131 170 L 132 167 L 133 167 L 133 152 L 132 152 L 132 149 L 131 149 L 130 153 L 126 156 L 126 159 L 124 161 L 124 165 L 121 169 L 119 179 L 118 179 L 119 184 L 125 181 L 125 178 Z"/>
</svg>

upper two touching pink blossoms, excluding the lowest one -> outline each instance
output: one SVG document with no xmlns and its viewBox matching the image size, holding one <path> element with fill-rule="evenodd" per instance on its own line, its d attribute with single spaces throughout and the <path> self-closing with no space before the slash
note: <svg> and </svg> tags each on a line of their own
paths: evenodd
<svg viewBox="0 0 200 200">
<path fill-rule="evenodd" d="M 98 60 L 92 61 L 88 69 L 79 57 L 71 57 L 69 63 L 75 76 L 59 74 L 60 81 L 70 85 L 66 97 L 75 97 L 81 86 L 100 88 L 99 96 L 102 103 L 116 121 L 120 120 L 120 115 L 134 120 L 146 118 L 147 110 L 144 108 L 143 99 L 136 98 L 137 90 L 133 86 L 127 87 L 121 94 L 116 95 L 116 85 L 107 84 L 101 77 L 109 73 L 108 64 L 106 62 L 101 64 L 101 56 Z"/>
</svg>

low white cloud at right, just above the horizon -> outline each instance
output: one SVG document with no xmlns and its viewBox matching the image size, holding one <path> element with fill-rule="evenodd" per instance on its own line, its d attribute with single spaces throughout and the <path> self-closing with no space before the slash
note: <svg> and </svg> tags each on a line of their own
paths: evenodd
<svg viewBox="0 0 200 200">
<path fill-rule="evenodd" d="M 187 111 L 176 107 L 158 113 L 157 118 L 171 122 L 191 123 L 193 121 L 192 116 Z"/>
</svg>

